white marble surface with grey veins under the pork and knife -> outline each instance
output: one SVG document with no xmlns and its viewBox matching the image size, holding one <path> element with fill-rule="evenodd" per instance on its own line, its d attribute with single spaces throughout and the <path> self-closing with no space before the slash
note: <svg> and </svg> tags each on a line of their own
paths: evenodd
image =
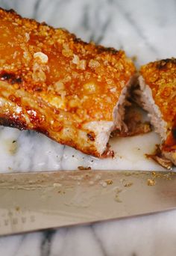
<svg viewBox="0 0 176 256">
<path fill-rule="evenodd" d="M 136 65 L 175 56 L 175 0 L 0 0 L 22 16 L 64 27 L 84 40 L 137 55 Z M 13 141 L 16 141 L 13 143 Z M 151 132 L 110 141 L 115 159 L 95 159 L 35 132 L 0 128 L 0 171 L 159 169 L 145 159 L 160 138 Z M 176 211 L 79 228 L 0 238 L 1 256 L 176 255 Z"/>
</svg>

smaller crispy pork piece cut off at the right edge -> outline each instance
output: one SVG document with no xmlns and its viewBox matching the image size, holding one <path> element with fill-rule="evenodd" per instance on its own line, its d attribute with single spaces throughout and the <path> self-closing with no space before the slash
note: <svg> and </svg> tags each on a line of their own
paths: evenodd
<svg viewBox="0 0 176 256">
<path fill-rule="evenodd" d="M 162 138 L 162 155 L 176 165 L 176 59 L 168 58 L 142 66 L 136 94 Z"/>
</svg>

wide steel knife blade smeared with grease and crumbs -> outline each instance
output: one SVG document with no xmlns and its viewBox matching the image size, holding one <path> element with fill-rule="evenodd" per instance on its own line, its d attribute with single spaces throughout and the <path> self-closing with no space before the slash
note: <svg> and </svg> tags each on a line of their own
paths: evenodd
<svg viewBox="0 0 176 256">
<path fill-rule="evenodd" d="M 0 235 L 122 219 L 175 207 L 175 172 L 0 174 Z"/>
</svg>

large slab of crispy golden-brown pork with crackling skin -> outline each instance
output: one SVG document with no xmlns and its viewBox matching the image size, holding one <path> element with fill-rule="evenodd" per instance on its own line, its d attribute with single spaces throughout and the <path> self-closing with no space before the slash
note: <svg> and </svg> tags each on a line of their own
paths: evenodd
<svg viewBox="0 0 176 256">
<path fill-rule="evenodd" d="M 108 155 L 135 67 L 125 52 L 0 9 L 0 124 Z"/>
</svg>

